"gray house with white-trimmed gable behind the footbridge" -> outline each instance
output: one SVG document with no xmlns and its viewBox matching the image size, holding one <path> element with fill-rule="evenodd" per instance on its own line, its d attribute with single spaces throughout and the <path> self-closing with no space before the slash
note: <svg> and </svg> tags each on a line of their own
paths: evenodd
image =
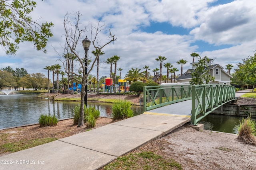
<svg viewBox="0 0 256 170">
<path fill-rule="evenodd" d="M 209 82 L 209 84 L 227 84 L 230 85 L 230 76 L 220 64 L 214 64 L 212 65 L 213 59 L 209 59 L 206 61 L 207 67 L 205 70 L 210 69 L 210 75 L 214 76 L 215 80 Z M 177 78 L 177 82 L 189 84 L 190 80 L 192 80 L 191 73 L 194 72 L 194 69 L 196 68 L 196 62 L 190 63 L 192 65 L 191 69 L 188 69 L 182 76 Z"/>
</svg>

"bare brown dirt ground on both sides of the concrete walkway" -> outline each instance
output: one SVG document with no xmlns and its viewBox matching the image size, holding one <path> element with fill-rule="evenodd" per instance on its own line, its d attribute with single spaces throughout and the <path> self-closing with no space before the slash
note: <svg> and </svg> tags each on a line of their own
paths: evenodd
<svg viewBox="0 0 256 170">
<path fill-rule="evenodd" d="M 128 97 L 124 96 L 124 98 Z M 135 99 L 130 97 L 130 100 Z M 256 103 L 255 100 L 253 102 Z M 100 117 L 96 121 L 95 128 L 108 123 L 112 123 L 112 119 Z M 73 125 L 72 119 L 59 121 L 55 127 L 32 125 L 5 129 L 0 131 L 0 137 L 5 135 L 7 138 L 0 138 L 0 146 L 8 142 L 37 138 L 56 137 L 61 139 L 87 130 L 86 126 L 77 128 L 76 125 Z M 196 131 L 188 125 L 183 125 L 133 152 L 155 152 L 164 158 L 172 158 L 179 162 L 184 170 L 256 170 L 256 146 L 244 144 L 236 138 L 235 134 L 208 130 Z M 4 154 L 9 153 L 0 149 L 0 156 Z"/>
</svg>

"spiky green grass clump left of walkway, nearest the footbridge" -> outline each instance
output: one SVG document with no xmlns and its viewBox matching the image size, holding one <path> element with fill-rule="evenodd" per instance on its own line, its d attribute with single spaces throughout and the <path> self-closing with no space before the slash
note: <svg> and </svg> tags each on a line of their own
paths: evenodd
<svg viewBox="0 0 256 170">
<path fill-rule="evenodd" d="M 126 119 L 133 116 L 132 103 L 125 100 L 118 100 L 112 106 L 113 120 Z"/>
</svg>

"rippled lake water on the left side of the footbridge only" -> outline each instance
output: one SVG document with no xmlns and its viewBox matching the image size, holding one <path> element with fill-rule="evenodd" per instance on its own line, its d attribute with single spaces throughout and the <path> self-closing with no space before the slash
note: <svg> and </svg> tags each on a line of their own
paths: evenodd
<svg viewBox="0 0 256 170">
<path fill-rule="evenodd" d="M 57 119 L 73 117 L 80 102 L 58 102 L 37 98 L 36 94 L 0 95 L 0 129 L 38 123 L 41 114 L 55 115 Z M 100 110 L 101 117 L 111 117 L 112 104 L 90 103 Z M 143 113 L 143 107 L 132 106 L 134 115 Z"/>
</svg>

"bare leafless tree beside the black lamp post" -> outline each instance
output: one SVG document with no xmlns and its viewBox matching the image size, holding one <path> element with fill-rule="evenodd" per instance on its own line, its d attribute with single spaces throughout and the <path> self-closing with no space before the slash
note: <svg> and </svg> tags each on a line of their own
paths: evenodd
<svg viewBox="0 0 256 170">
<path fill-rule="evenodd" d="M 80 28 L 80 17 L 82 14 L 80 12 L 76 12 L 74 15 L 74 18 L 70 18 L 70 13 L 67 13 L 64 17 L 64 29 L 65 29 L 65 38 L 66 38 L 66 45 L 65 45 L 65 51 L 68 52 L 70 51 L 71 54 L 76 56 L 76 62 L 78 62 L 78 70 L 73 70 L 72 74 L 75 75 L 74 79 L 76 81 L 80 82 L 82 85 L 81 89 L 81 102 L 80 102 L 80 118 L 78 121 L 78 127 L 84 125 L 84 96 L 86 95 L 85 86 L 86 86 L 86 80 L 90 72 L 92 71 L 93 66 L 95 65 L 98 55 L 94 59 L 92 59 L 92 66 L 89 68 L 86 74 L 86 69 L 84 64 L 86 62 L 86 56 L 80 55 L 79 50 L 82 48 L 82 39 L 85 38 L 85 33 L 90 32 L 91 34 L 91 43 L 94 46 L 95 49 L 98 51 L 102 51 L 102 48 L 105 47 L 106 45 L 110 44 L 112 41 L 116 41 L 116 38 L 114 37 L 115 35 L 112 35 L 111 31 L 109 30 L 109 35 L 108 39 L 102 44 L 102 39 L 99 37 L 99 33 L 104 30 L 106 27 L 105 24 L 100 25 L 100 21 L 98 21 L 98 24 L 96 27 L 90 23 L 90 29 L 88 30 L 87 27 L 84 29 Z M 80 45 L 77 47 L 77 45 Z M 77 50 L 78 48 L 78 50 Z M 89 53 L 88 53 L 89 54 Z M 81 80 L 78 80 L 76 77 L 81 77 Z"/>
</svg>

